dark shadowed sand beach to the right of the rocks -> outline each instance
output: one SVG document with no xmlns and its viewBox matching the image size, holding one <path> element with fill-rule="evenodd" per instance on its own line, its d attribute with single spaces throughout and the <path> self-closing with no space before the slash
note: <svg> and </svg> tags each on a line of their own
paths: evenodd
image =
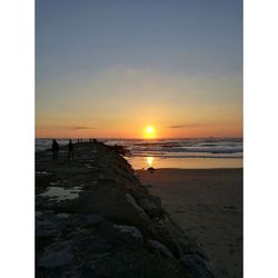
<svg viewBox="0 0 278 278">
<path fill-rule="evenodd" d="M 242 169 L 137 173 L 172 219 L 197 238 L 218 277 L 242 277 Z"/>
</svg>

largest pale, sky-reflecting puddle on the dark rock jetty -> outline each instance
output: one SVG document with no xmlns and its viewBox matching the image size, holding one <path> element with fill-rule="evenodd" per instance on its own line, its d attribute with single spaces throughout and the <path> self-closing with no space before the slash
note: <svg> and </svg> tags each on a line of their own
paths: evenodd
<svg viewBox="0 0 278 278">
<path fill-rule="evenodd" d="M 49 187 L 46 192 L 41 193 L 42 197 L 57 198 L 58 200 L 71 200 L 78 198 L 80 187 L 63 188 L 63 187 Z"/>
</svg>

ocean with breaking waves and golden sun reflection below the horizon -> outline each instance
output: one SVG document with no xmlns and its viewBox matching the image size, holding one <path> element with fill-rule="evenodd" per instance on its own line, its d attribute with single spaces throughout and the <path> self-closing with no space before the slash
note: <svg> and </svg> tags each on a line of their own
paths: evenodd
<svg viewBox="0 0 278 278">
<path fill-rule="evenodd" d="M 126 146 L 131 153 L 127 160 L 133 169 L 242 167 L 242 138 L 98 140 L 110 146 Z M 68 139 L 57 141 L 61 146 L 68 143 Z M 36 151 L 51 148 L 51 139 L 36 139 Z"/>
</svg>

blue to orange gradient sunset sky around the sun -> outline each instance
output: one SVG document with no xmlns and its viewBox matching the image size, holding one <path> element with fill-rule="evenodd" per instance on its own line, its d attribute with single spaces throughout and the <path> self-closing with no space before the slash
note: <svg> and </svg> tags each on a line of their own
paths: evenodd
<svg viewBox="0 0 278 278">
<path fill-rule="evenodd" d="M 37 0 L 36 137 L 242 136 L 241 0 Z"/>
</svg>

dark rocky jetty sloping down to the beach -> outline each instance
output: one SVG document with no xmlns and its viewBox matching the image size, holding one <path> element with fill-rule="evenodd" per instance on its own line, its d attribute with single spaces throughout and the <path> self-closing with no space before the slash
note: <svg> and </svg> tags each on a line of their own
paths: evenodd
<svg viewBox="0 0 278 278">
<path fill-rule="evenodd" d="M 122 157 L 75 143 L 36 153 L 36 277 L 212 278 L 203 251 Z"/>
</svg>

